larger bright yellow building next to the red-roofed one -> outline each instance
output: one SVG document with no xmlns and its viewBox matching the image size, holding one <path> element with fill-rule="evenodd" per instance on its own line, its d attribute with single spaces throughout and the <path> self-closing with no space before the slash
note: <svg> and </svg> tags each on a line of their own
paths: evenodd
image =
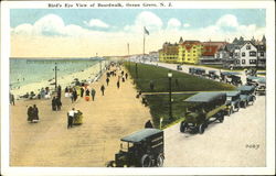
<svg viewBox="0 0 276 176">
<path fill-rule="evenodd" d="M 180 38 L 181 42 L 182 37 Z M 200 41 L 184 41 L 179 44 L 178 63 L 199 64 L 203 46 Z"/>
</svg>

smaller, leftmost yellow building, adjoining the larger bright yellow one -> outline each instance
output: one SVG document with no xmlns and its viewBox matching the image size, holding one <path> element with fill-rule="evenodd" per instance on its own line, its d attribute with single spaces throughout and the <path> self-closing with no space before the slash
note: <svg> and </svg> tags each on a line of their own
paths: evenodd
<svg viewBox="0 0 276 176">
<path fill-rule="evenodd" d="M 159 61 L 166 63 L 178 63 L 178 44 L 166 42 L 162 50 L 159 50 Z"/>
</svg>

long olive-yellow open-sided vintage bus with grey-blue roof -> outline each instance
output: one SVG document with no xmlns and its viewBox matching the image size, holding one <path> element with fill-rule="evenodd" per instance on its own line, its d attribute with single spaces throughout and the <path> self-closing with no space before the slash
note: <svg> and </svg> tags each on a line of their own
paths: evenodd
<svg viewBox="0 0 276 176">
<path fill-rule="evenodd" d="M 189 103 L 180 132 L 203 133 L 211 122 L 223 122 L 226 110 L 225 92 L 199 92 L 184 100 Z"/>
</svg>

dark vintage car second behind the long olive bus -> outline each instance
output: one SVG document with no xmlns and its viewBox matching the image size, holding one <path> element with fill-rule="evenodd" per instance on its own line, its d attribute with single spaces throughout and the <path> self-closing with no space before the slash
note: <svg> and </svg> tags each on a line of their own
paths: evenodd
<svg viewBox="0 0 276 176">
<path fill-rule="evenodd" d="M 254 103 L 255 97 L 255 86 L 241 86 L 237 88 L 241 91 L 241 107 L 246 108 L 250 102 Z"/>
</svg>

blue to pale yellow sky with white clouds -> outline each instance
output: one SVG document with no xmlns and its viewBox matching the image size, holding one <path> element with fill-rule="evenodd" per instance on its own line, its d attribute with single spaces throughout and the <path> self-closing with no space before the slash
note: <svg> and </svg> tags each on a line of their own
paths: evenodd
<svg viewBox="0 0 276 176">
<path fill-rule="evenodd" d="M 158 51 L 164 42 L 262 38 L 263 9 L 12 9 L 12 57 L 93 57 Z"/>
</svg>

